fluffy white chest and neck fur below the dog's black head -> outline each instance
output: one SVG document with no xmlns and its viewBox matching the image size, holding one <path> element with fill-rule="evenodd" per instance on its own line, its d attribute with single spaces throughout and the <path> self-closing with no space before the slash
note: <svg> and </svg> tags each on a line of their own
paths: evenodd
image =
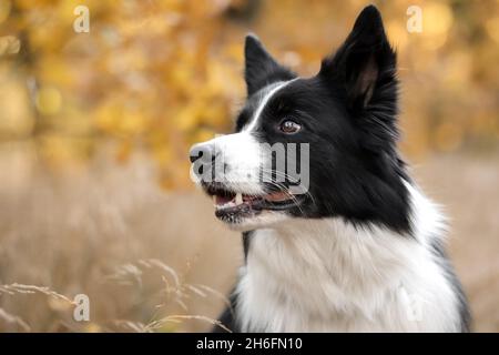
<svg viewBox="0 0 499 355">
<path fill-rule="evenodd" d="M 416 237 L 340 219 L 257 230 L 237 285 L 245 332 L 458 332 L 458 296 L 429 245 L 442 219 L 407 183 Z"/>
</svg>

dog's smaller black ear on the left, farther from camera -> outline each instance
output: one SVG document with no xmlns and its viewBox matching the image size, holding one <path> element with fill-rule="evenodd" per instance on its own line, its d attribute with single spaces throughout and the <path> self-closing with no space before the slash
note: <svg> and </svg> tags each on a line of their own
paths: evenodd
<svg viewBox="0 0 499 355">
<path fill-rule="evenodd" d="M 254 34 L 246 36 L 244 55 L 244 78 L 248 97 L 267 84 L 296 77 L 289 69 L 277 63 Z"/>
</svg>

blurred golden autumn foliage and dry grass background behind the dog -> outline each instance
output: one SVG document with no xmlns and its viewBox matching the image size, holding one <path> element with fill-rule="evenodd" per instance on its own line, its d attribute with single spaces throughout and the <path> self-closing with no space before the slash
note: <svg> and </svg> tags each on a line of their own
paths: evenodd
<svg viewBox="0 0 499 355">
<path fill-rule="evenodd" d="M 499 2 L 373 2 L 399 55 L 400 148 L 449 215 L 475 329 L 498 332 Z M 189 148 L 231 131 L 246 32 L 313 75 L 366 4 L 0 0 L 0 331 L 208 329 L 243 257 Z"/>
</svg>

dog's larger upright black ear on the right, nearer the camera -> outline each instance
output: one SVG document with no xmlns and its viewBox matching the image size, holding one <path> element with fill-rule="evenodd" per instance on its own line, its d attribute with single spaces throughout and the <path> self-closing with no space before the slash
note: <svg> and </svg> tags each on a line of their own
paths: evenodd
<svg viewBox="0 0 499 355">
<path fill-rule="evenodd" d="M 336 54 L 323 60 L 319 75 L 343 84 L 352 108 L 365 109 L 376 100 L 396 103 L 396 53 L 376 7 L 360 12 Z"/>
</svg>

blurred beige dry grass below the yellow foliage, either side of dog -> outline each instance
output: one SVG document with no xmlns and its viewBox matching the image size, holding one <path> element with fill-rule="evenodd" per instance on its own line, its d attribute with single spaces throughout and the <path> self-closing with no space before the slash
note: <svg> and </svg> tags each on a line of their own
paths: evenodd
<svg viewBox="0 0 499 355">
<path fill-rule="evenodd" d="M 476 328 L 499 331 L 498 156 L 415 169 L 454 219 L 450 252 Z M 0 146 L 0 331 L 185 332 L 216 324 L 240 237 L 197 193 L 166 194 L 144 160 L 49 174 L 26 145 Z M 38 286 L 33 286 L 38 285 Z M 72 318 L 74 295 L 91 322 Z"/>
</svg>

